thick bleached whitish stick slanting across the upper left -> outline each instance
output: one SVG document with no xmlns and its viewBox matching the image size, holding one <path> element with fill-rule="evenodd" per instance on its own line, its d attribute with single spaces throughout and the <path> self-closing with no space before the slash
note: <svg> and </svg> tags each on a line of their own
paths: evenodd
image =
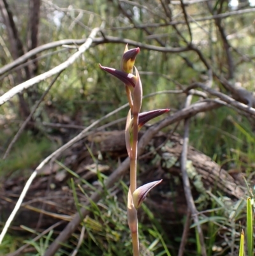
<svg viewBox="0 0 255 256">
<path fill-rule="evenodd" d="M 33 79 L 29 79 L 26 82 L 23 82 L 22 84 L 18 84 L 18 86 L 11 88 L 7 93 L 4 93 L 3 96 L 0 97 L 0 105 L 3 105 L 5 102 L 10 100 L 10 98 L 22 92 L 24 89 L 27 89 L 33 86 L 34 84 L 37 84 L 38 82 L 41 82 L 42 80 L 45 80 L 48 77 L 51 77 L 52 75 L 62 72 L 63 70 L 71 66 L 71 64 L 73 64 L 78 59 L 78 57 L 80 57 L 85 52 L 85 50 L 89 49 L 98 31 L 99 27 L 94 28 L 89 37 L 87 38 L 87 40 L 85 41 L 85 43 L 79 47 L 78 51 L 75 52 L 75 54 L 73 54 L 66 61 L 64 61 L 64 63 L 59 64 L 59 66 L 56 66 L 55 68 L 52 68 L 52 70 L 49 70 L 48 72 L 38 75 Z"/>
</svg>

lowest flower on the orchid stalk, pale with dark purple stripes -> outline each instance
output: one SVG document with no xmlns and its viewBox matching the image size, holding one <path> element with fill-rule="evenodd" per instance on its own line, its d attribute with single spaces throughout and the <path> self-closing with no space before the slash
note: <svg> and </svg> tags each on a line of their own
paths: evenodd
<svg viewBox="0 0 255 256">
<path fill-rule="evenodd" d="M 154 186 L 157 186 L 157 184 L 161 183 L 162 179 L 160 181 L 153 181 L 147 184 L 144 184 L 143 186 L 140 186 L 135 190 L 133 193 L 133 204 L 136 209 L 138 209 L 142 202 L 145 200 L 147 194 L 154 188 Z"/>
</svg>

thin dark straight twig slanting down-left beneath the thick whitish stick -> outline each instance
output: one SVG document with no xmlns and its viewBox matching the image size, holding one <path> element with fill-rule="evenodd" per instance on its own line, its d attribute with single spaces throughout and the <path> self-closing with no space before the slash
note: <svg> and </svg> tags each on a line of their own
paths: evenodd
<svg viewBox="0 0 255 256">
<path fill-rule="evenodd" d="M 62 71 L 61 71 L 62 72 Z M 17 139 L 20 137 L 20 134 L 23 132 L 23 130 L 25 129 L 25 126 L 27 126 L 27 124 L 29 123 L 31 117 L 33 116 L 34 112 L 36 112 L 36 109 L 38 109 L 40 103 L 43 101 L 44 97 L 47 95 L 47 93 L 50 91 L 50 88 L 54 85 L 55 81 L 57 80 L 57 78 L 59 77 L 59 75 L 61 74 L 61 72 L 59 72 L 55 78 L 52 80 L 52 82 L 50 83 L 50 85 L 48 86 L 47 90 L 43 93 L 43 95 L 41 96 L 40 100 L 38 100 L 38 102 L 36 103 L 36 105 L 34 105 L 34 109 L 31 111 L 31 113 L 29 114 L 29 116 L 27 117 L 27 119 L 25 119 L 24 123 L 22 124 L 22 126 L 20 126 L 20 129 L 18 130 L 18 132 L 16 133 L 15 137 L 13 138 L 13 140 L 11 140 L 8 148 L 6 149 L 6 152 L 4 153 L 3 159 L 5 159 L 8 154 L 11 151 L 11 147 L 14 145 L 14 143 L 17 141 Z"/>
</svg>

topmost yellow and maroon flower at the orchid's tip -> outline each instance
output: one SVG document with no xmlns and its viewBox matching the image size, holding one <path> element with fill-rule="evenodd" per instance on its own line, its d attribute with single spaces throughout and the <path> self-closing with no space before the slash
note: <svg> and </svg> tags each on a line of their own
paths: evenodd
<svg viewBox="0 0 255 256">
<path fill-rule="evenodd" d="M 128 44 L 127 44 L 121 59 L 120 69 L 126 73 L 133 73 L 135 58 L 139 52 L 140 52 L 139 47 L 128 50 Z"/>
</svg>

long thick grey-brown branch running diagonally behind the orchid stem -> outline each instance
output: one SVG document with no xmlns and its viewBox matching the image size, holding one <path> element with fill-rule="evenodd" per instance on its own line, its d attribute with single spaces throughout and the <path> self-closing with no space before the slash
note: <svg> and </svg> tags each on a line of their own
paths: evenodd
<svg viewBox="0 0 255 256">
<path fill-rule="evenodd" d="M 128 103 L 126 105 L 128 106 Z M 162 128 L 170 124 L 179 122 L 182 119 L 185 119 L 187 117 L 194 116 L 199 112 L 205 112 L 208 110 L 217 109 L 219 107 L 221 107 L 221 104 L 215 103 L 215 102 L 194 103 L 190 107 L 182 109 L 179 112 L 176 112 L 175 114 L 173 114 L 172 116 L 164 119 L 161 123 L 150 127 L 139 141 L 137 155 L 140 156 L 143 153 L 145 147 L 149 144 L 150 140 Z M 119 181 L 120 177 L 126 174 L 128 169 L 129 169 L 129 158 L 126 158 L 126 160 L 124 160 L 124 162 L 122 162 L 121 165 L 119 165 L 119 167 L 116 170 L 114 170 L 114 172 L 108 177 L 108 179 L 106 179 L 105 188 L 110 188 L 115 182 Z M 100 191 L 94 192 L 92 194 L 91 200 L 93 202 L 98 202 L 98 200 L 101 198 L 99 194 Z M 86 206 L 89 206 L 89 202 L 85 205 L 85 207 Z M 80 213 L 82 215 L 82 218 L 84 218 L 87 214 L 89 214 L 89 209 L 83 208 L 80 210 Z M 80 214 L 76 213 L 75 216 L 73 217 L 73 220 L 71 220 L 71 222 L 69 222 L 68 225 L 66 225 L 64 230 L 62 230 L 61 234 L 59 234 L 59 236 L 55 239 L 52 245 L 50 245 L 47 252 L 45 252 L 44 256 L 55 255 L 57 250 L 61 247 L 61 244 L 64 243 L 69 238 L 69 236 L 71 236 L 73 232 L 75 232 L 75 230 L 77 229 L 81 221 L 82 220 L 80 219 Z"/>
</svg>

